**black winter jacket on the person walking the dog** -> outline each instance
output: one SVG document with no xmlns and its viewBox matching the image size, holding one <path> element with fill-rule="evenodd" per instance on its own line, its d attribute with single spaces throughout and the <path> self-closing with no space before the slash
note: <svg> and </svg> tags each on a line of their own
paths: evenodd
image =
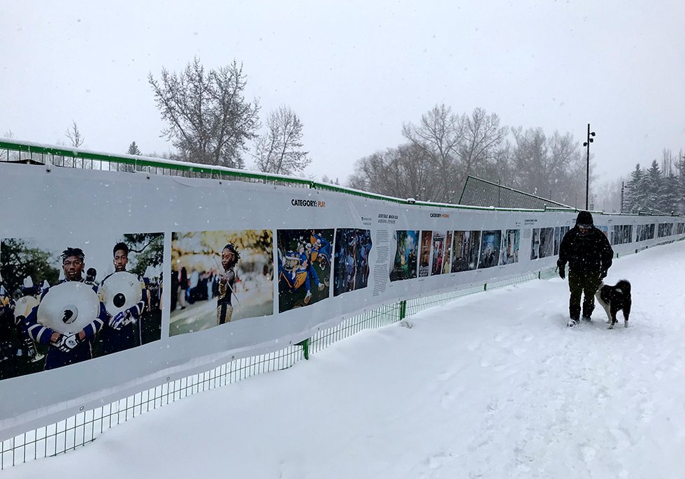
<svg viewBox="0 0 685 479">
<path fill-rule="evenodd" d="M 565 267 L 572 272 L 604 272 L 609 270 L 614 258 L 609 239 L 594 226 L 584 235 L 577 226 L 571 228 L 559 246 L 559 268 Z"/>
</svg>

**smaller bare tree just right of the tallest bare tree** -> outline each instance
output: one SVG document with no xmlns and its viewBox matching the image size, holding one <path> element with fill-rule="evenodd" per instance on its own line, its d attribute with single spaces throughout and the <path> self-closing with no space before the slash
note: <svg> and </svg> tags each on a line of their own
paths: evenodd
<svg viewBox="0 0 685 479">
<path fill-rule="evenodd" d="M 302 122 L 287 106 L 271 112 L 266 133 L 257 138 L 255 159 L 259 171 L 293 175 L 312 160 L 303 151 Z"/>
</svg>

